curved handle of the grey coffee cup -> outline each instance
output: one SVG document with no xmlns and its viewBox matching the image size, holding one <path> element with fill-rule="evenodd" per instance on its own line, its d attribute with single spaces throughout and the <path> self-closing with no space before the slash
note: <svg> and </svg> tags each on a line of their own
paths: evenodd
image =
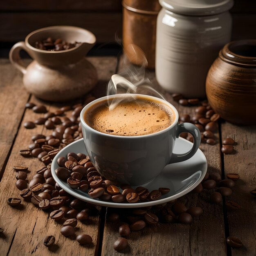
<svg viewBox="0 0 256 256">
<path fill-rule="evenodd" d="M 193 147 L 191 148 L 191 150 L 189 150 L 184 154 L 173 153 L 169 164 L 182 162 L 193 157 L 193 155 L 195 155 L 196 151 L 199 148 L 199 145 L 201 142 L 201 134 L 200 134 L 200 130 L 195 125 L 190 123 L 179 124 L 176 130 L 176 137 L 178 138 L 182 132 L 189 132 L 193 136 L 194 138 Z"/>
</svg>

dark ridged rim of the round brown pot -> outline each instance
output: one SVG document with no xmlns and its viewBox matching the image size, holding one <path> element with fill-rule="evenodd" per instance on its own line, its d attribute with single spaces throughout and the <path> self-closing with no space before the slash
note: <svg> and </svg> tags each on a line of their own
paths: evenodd
<svg viewBox="0 0 256 256">
<path fill-rule="evenodd" d="M 256 56 L 246 56 L 235 52 L 236 49 L 243 46 L 252 46 L 256 49 L 256 39 L 231 41 L 220 50 L 219 57 L 233 65 L 256 67 Z"/>
</svg>

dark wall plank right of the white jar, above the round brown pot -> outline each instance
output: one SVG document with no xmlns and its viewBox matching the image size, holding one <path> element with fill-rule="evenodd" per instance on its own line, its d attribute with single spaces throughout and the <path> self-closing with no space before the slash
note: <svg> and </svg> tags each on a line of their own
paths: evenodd
<svg viewBox="0 0 256 256">
<path fill-rule="evenodd" d="M 255 14 L 233 13 L 232 18 L 231 40 L 256 39 L 256 34 L 252 33 L 256 24 Z"/>
</svg>

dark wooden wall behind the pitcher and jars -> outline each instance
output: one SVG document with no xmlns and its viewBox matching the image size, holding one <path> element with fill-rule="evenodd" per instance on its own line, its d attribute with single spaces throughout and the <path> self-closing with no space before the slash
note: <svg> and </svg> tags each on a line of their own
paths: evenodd
<svg viewBox="0 0 256 256">
<path fill-rule="evenodd" d="M 235 0 L 232 40 L 256 39 L 256 0 Z M 90 55 L 116 55 L 122 36 L 121 0 L 2 0 L 0 57 L 31 31 L 52 25 L 72 25 L 92 31 L 97 45 Z"/>
</svg>

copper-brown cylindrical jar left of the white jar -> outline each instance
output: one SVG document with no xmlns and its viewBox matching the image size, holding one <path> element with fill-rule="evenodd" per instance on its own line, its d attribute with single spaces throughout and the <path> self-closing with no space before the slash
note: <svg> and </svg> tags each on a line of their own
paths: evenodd
<svg viewBox="0 0 256 256">
<path fill-rule="evenodd" d="M 155 38 L 157 14 L 161 9 L 158 0 L 123 1 L 123 44 L 128 60 L 136 65 L 144 65 L 144 56 L 148 68 L 155 67 Z"/>
</svg>

